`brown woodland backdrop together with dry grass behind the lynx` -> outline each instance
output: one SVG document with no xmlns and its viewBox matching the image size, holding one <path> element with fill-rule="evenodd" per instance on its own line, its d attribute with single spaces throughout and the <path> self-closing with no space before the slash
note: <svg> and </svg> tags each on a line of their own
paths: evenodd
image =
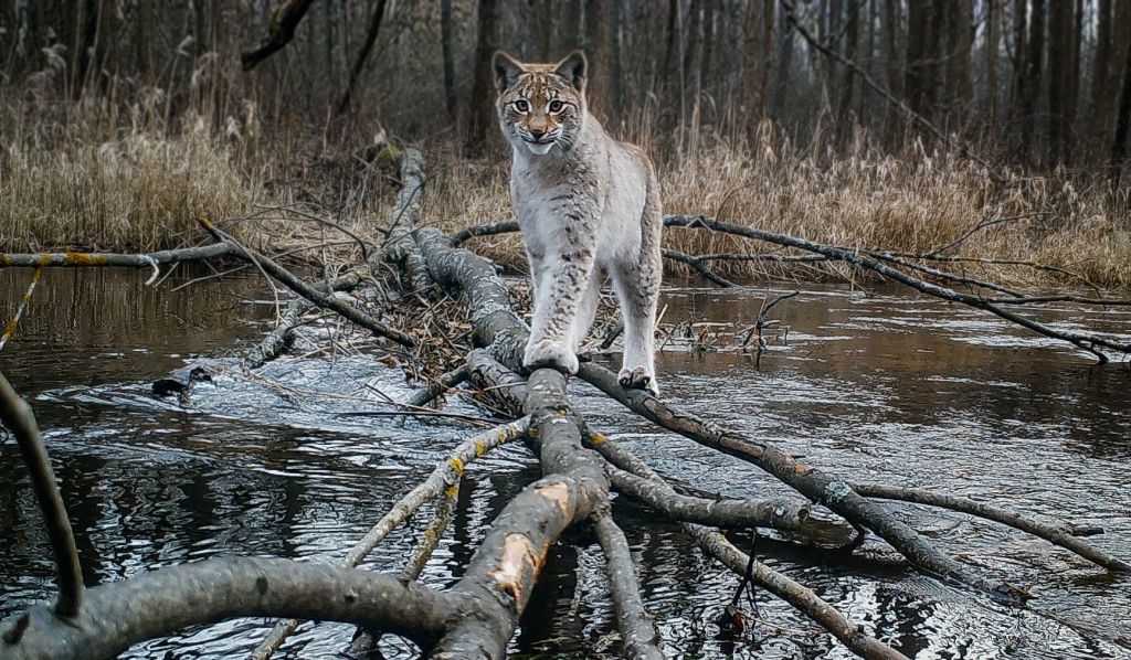
<svg viewBox="0 0 1131 660">
<path fill-rule="evenodd" d="M 278 16 L 239 3 L 16 2 L 21 32 L 0 35 L 0 249 L 173 248 L 196 240 L 199 217 L 265 252 L 312 245 L 335 232 L 305 216 L 360 231 L 387 212 L 373 134 L 433 154 L 425 202 L 446 228 L 509 218 L 476 60 L 495 45 L 534 59 L 582 46 L 597 115 L 657 159 L 668 212 L 913 253 L 984 225 L 947 254 L 1131 284 L 1128 190 L 1107 176 L 1125 149 L 1125 2 L 1078 3 L 1082 18 L 1061 11 L 1055 31 L 1042 29 L 1041 5 L 998 0 L 614 5 L 279 3 L 302 9 L 279 32 Z M 622 27 L 596 29 L 603 12 Z M 241 72 L 265 42 L 275 54 Z M 943 51 L 961 57 L 941 66 Z M 467 159 L 469 146 L 485 155 Z M 688 253 L 739 248 L 701 232 L 666 240 Z M 485 248 L 523 262 L 515 237 Z M 1051 284 L 1047 270 L 977 270 Z"/>
</svg>

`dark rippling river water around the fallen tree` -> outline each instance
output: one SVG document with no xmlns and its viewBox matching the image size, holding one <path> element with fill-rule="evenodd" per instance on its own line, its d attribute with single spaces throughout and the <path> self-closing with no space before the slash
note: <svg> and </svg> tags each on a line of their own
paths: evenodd
<svg viewBox="0 0 1131 660">
<path fill-rule="evenodd" d="M 0 271 L 3 321 L 27 276 Z M 44 429 L 88 584 L 216 555 L 334 561 L 472 431 L 456 420 L 342 415 L 379 407 L 378 391 L 396 399 L 409 391 L 398 370 L 346 354 L 284 358 L 256 376 L 223 368 L 188 410 L 155 401 L 149 381 L 190 357 L 222 359 L 254 341 L 270 307 L 254 279 L 179 293 L 154 292 L 143 279 L 46 273 L 18 338 L 0 353 L 0 370 L 32 400 Z M 697 323 L 690 335 L 699 338 L 711 328 L 702 323 L 749 323 L 760 297 L 673 289 L 665 321 Z M 1095 367 L 992 318 L 899 295 L 806 290 L 774 316 L 789 327 L 788 341 L 772 339 L 760 366 L 732 349 L 741 341 L 733 328 L 713 327 L 716 335 L 699 341 L 681 328 L 659 361 L 664 396 L 857 480 L 939 488 L 1102 524 L 1107 533 L 1091 540 L 1131 556 L 1126 364 Z M 1128 311 L 1041 318 L 1131 332 Z M 718 350 L 690 346 L 697 342 Z M 575 400 L 595 426 L 661 471 L 732 495 L 786 493 L 757 469 L 658 433 L 584 385 L 575 387 Z M 485 414 L 464 401 L 451 409 Z M 537 478 L 534 466 L 521 446 L 472 466 L 425 583 L 458 578 L 484 526 Z M 878 562 L 846 563 L 765 539 L 756 550 L 910 657 L 1131 658 L 1131 578 L 1113 579 L 992 523 L 904 510 L 942 548 L 1039 598 L 1025 610 L 993 605 L 891 565 L 882 544 L 862 552 Z M 646 511 L 621 502 L 616 515 L 671 655 L 849 657 L 765 593 L 757 594 L 760 625 L 752 633 L 736 639 L 719 631 L 715 620 L 736 579 Z M 592 539 L 570 540 L 547 562 L 516 653 L 615 657 L 602 556 Z M 366 565 L 397 571 L 413 544 L 412 529 L 402 530 Z M 53 593 L 46 547 L 16 446 L 0 443 L 0 618 Z M 243 657 L 269 625 L 247 619 L 184 631 L 130 655 Z M 346 626 L 307 624 L 282 657 L 335 657 L 349 634 Z M 395 645 L 387 651 L 407 654 Z"/>
</svg>

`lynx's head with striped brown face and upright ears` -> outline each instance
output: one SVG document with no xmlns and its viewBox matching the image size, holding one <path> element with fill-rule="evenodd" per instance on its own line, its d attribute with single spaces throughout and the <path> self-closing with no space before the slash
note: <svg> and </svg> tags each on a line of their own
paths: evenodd
<svg viewBox="0 0 1131 660">
<path fill-rule="evenodd" d="M 528 64 L 499 51 L 493 62 L 499 89 L 499 125 L 516 149 L 569 151 L 585 121 L 585 53 L 573 51 L 556 64 Z"/>
</svg>

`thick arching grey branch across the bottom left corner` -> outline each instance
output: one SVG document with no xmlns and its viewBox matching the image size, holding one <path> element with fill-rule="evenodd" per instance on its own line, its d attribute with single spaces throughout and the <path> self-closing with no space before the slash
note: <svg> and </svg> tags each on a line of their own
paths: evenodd
<svg viewBox="0 0 1131 660">
<path fill-rule="evenodd" d="M 417 642 L 439 636 L 459 598 L 394 575 L 290 559 L 182 564 L 87 591 L 75 619 L 46 608 L 6 625 L 6 659 L 113 658 L 131 644 L 241 617 L 299 617 L 380 627 Z"/>
</svg>

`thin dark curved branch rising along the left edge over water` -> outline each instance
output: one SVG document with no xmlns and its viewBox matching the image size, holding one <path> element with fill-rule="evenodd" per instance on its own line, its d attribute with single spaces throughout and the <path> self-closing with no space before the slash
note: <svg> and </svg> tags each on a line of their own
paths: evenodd
<svg viewBox="0 0 1131 660">
<path fill-rule="evenodd" d="M 27 466 L 32 479 L 32 490 L 43 513 L 43 522 L 51 539 L 51 552 L 55 556 L 55 567 L 59 575 L 59 602 L 55 603 L 55 616 L 75 618 L 83 608 L 83 567 L 78 562 L 78 550 L 75 547 L 75 533 L 71 531 L 67 509 L 55 483 L 48 449 L 40 437 L 40 428 L 35 423 L 35 414 L 12 389 L 8 379 L 0 373 L 0 422 L 11 431 L 19 444 L 19 453 Z"/>
</svg>

